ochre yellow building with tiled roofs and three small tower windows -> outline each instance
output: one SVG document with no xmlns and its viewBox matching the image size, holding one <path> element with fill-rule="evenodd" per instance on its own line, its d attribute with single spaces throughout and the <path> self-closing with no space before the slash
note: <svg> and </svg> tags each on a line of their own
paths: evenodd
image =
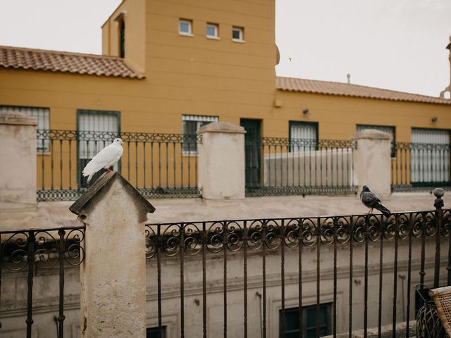
<svg viewBox="0 0 451 338">
<path fill-rule="evenodd" d="M 214 120 L 244 126 L 251 143 L 349 140 L 376 126 L 396 142 L 449 146 L 450 100 L 276 77 L 274 22 L 273 0 L 124 0 L 102 26 L 103 56 L 0 47 L 0 109 L 35 115 L 42 130 L 72 131 L 38 133 L 38 189 L 77 194 L 80 168 L 122 134 L 121 170 L 137 187 L 196 195 L 193 135 Z M 254 160 L 246 149 L 247 181 L 260 185 L 271 149 Z M 448 182 L 449 165 L 440 170 L 437 180 Z M 41 199 L 59 198 L 51 196 Z"/>
</svg>

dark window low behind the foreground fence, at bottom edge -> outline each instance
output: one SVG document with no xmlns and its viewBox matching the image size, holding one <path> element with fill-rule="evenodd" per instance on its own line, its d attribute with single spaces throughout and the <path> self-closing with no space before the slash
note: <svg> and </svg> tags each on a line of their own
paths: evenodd
<svg viewBox="0 0 451 338">
<path fill-rule="evenodd" d="M 332 320 L 331 303 L 319 304 L 319 337 L 330 334 Z M 302 337 L 316 337 L 316 305 L 302 307 Z M 282 327 L 282 311 L 279 311 L 279 337 L 299 337 L 299 308 L 285 308 L 285 327 Z"/>
</svg>

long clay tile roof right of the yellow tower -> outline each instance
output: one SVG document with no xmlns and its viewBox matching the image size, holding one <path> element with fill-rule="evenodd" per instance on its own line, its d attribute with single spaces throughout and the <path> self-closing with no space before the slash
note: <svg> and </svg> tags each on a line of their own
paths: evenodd
<svg viewBox="0 0 451 338">
<path fill-rule="evenodd" d="M 339 95 L 382 99 L 393 101 L 413 101 L 425 104 L 450 104 L 451 100 L 440 97 L 397 92 L 395 90 L 359 86 L 342 82 L 296 79 L 294 77 L 277 77 L 276 88 L 288 92 Z"/>
</svg>

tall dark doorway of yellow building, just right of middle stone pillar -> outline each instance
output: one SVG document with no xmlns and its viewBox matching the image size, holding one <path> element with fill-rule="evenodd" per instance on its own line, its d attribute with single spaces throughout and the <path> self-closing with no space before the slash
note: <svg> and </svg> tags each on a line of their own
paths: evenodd
<svg viewBox="0 0 451 338">
<path fill-rule="evenodd" d="M 260 187 L 260 125 L 261 120 L 240 121 L 245 128 L 245 165 L 246 165 L 246 187 Z"/>
</svg>

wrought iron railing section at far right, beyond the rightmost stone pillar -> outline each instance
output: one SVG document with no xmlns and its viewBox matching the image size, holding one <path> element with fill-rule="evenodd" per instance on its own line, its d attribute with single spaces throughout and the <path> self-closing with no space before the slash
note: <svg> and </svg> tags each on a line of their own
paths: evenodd
<svg viewBox="0 0 451 338">
<path fill-rule="evenodd" d="M 451 189 L 450 144 L 396 142 L 392 191 Z"/>
</svg>

